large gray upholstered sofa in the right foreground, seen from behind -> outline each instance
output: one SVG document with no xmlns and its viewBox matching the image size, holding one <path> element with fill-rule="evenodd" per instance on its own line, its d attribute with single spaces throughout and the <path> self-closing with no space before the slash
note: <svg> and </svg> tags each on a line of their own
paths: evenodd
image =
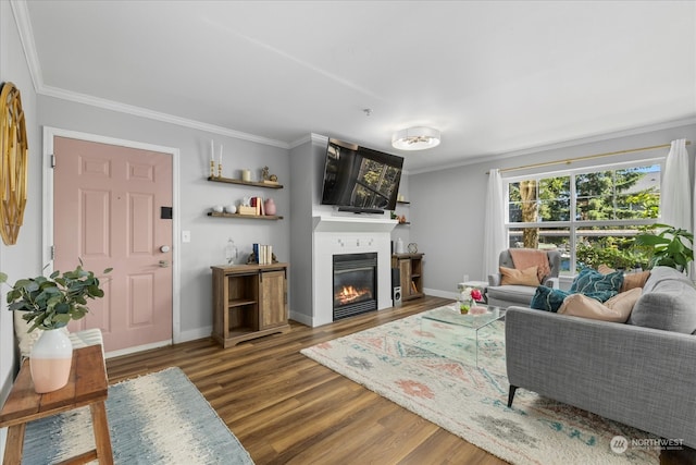
<svg viewBox="0 0 696 465">
<path fill-rule="evenodd" d="M 696 289 L 684 274 L 651 270 L 626 323 L 525 307 L 505 320 L 509 406 L 522 388 L 696 448 Z"/>
</svg>

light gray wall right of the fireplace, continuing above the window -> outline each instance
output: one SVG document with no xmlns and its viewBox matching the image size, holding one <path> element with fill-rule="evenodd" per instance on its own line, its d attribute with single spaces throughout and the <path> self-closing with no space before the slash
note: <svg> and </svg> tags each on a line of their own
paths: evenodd
<svg viewBox="0 0 696 465">
<path fill-rule="evenodd" d="M 669 126 L 669 127 L 668 127 Z M 687 121 L 661 129 L 631 131 L 597 137 L 594 142 L 577 142 L 563 147 L 507 154 L 489 161 L 448 168 L 446 170 L 411 173 L 411 242 L 425 253 L 423 281 L 431 295 L 455 296 L 457 283 L 463 274 L 472 280 L 483 276 L 483 220 L 485 193 L 492 168 L 513 168 L 531 163 L 564 160 L 638 147 L 669 144 L 678 138 L 692 140 L 687 146 L 692 164 L 696 151 L 696 122 Z M 573 167 L 597 166 L 611 161 L 647 159 L 667 156 L 669 148 L 621 155 L 599 160 L 573 163 Z M 563 164 L 554 167 L 563 169 Z M 548 168 L 549 170 L 554 168 Z M 515 172 L 522 174 L 524 172 Z M 694 170 L 691 170 L 692 178 Z"/>
</svg>

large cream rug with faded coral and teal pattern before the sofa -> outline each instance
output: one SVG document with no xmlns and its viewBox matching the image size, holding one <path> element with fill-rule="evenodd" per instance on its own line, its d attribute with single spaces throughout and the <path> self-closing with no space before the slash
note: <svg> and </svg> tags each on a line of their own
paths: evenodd
<svg viewBox="0 0 696 465">
<path fill-rule="evenodd" d="M 473 332 L 421 315 L 321 343 L 301 353 L 513 464 L 657 464 L 649 448 L 611 450 L 611 439 L 656 439 L 520 389 L 507 406 L 505 328 Z"/>
</svg>

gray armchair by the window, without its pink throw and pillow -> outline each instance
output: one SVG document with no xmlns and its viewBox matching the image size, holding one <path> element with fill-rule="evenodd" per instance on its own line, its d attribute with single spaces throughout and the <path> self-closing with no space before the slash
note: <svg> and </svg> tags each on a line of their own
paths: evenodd
<svg viewBox="0 0 696 465">
<path fill-rule="evenodd" d="M 552 249 L 547 250 L 548 265 L 551 269 L 550 274 L 544 281 L 544 285 L 548 287 L 558 289 L 558 274 L 561 268 L 561 253 Z M 498 257 L 498 266 L 506 268 L 514 268 L 512 262 L 512 256 L 510 256 L 510 249 L 505 249 Z M 486 298 L 488 305 L 495 307 L 508 308 L 511 305 L 530 306 L 532 297 L 536 292 L 536 286 L 532 285 L 517 285 L 517 284 L 500 284 L 500 273 L 488 276 L 488 287 L 486 289 Z"/>
</svg>

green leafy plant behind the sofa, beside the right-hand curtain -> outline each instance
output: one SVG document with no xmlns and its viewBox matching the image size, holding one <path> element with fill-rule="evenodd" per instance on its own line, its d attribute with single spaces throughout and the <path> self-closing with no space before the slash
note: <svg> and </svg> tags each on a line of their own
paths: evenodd
<svg viewBox="0 0 696 465">
<path fill-rule="evenodd" d="M 657 266 L 684 271 L 694 259 L 694 234 L 670 224 L 652 224 L 637 234 L 634 244 L 649 253 L 648 268 Z"/>
</svg>

